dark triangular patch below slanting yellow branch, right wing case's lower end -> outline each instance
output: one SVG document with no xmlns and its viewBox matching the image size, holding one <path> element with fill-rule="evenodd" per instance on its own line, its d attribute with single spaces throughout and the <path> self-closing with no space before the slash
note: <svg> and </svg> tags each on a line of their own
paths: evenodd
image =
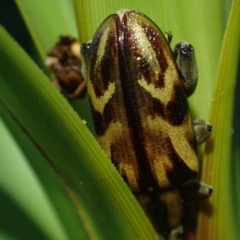
<svg viewBox="0 0 240 240">
<path fill-rule="evenodd" d="M 171 169 L 166 169 L 167 178 L 173 187 L 179 187 L 188 180 L 195 179 L 197 172 L 191 170 L 174 150 L 171 139 L 167 138 L 168 158 L 172 163 Z"/>
</svg>

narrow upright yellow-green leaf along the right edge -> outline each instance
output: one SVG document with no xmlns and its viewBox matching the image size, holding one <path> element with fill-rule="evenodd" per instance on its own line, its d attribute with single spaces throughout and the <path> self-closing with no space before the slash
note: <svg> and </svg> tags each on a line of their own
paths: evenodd
<svg viewBox="0 0 240 240">
<path fill-rule="evenodd" d="M 211 99 L 210 121 L 215 128 L 212 136 L 214 143 L 210 142 L 207 145 L 208 154 L 204 161 L 203 177 L 214 188 L 214 195 L 211 198 L 214 212 L 211 217 L 200 216 L 200 239 L 238 238 L 238 224 L 235 221 L 238 213 L 235 210 L 239 210 L 239 201 L 236 201 L 236 195 L 239 198 L 239 194 L 236 194 L 237 187 L 235 189 L 232 187 L 238 173 L 234 170 L 234 165 L 231 166 L 231 147 L 234 93 L 240 50 L 239 11 L 240 2 L 233 1 Z"/>
</svg>

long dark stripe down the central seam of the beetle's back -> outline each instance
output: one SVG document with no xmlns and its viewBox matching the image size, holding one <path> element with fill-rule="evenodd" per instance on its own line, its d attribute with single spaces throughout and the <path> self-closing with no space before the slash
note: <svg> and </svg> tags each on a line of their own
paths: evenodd
<svg viewBox="0 0 240 240">
<path fill-rule="evenodd" d="M 129 33 L 126 29 L 126 22 L 128 18 L 126 18 L 125 14 L 122 19 L 122 29 L 120 32 L 123 33 L 123 40 L 119 42 L 119 46 L 121 47 L 119 51 L 119 67 L 120 67 L 120 74 L 121 74 L 121 84 L 123 89 L 123 99 L 125 104 L 126 116 L 128 120 L 128 126 L 130 135 L 132 138 L 134 151 L 136 154 L 136 159 L 138 160 L 138 172 L 139 178 L 137 179 L 138 185 L 143 192 L 147 192 L 151 190 L 157 190 L 158 183 L 154 179 L 152 174 L 150 161 L 147 157 L 146 149 L 143 145 L 143 129 L 140 122 L 138 107 L 136 103 L 136 96 L 134 88 L 133 88 L 133 80 L 132 75 L 129 72 L 129 66 L 132 64 L 131 59 L 129 60 L 129 56 L 127 56 L 128 48 L 131 48 L 131 43 L 129 42 Z M 120 23 L 119 23 L 120 24 Z M 130 33 L 131 36 L 131 33 Z M 133 51 L 133 49 L 131 49 Z"/>
</svg>

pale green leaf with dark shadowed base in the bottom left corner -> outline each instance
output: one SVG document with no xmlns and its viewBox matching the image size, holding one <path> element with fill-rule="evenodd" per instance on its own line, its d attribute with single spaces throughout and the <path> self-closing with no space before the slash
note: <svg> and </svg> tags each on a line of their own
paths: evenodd
<svg viewBox="0 0 240 240">
<path fill-rule="evenodd" d="M 68 239 L 31 166 L 2 121 L 0 132 L 1 231 L 16 239 L 30 239 L 35 234 L 37 239 Z"/>
</svg>

